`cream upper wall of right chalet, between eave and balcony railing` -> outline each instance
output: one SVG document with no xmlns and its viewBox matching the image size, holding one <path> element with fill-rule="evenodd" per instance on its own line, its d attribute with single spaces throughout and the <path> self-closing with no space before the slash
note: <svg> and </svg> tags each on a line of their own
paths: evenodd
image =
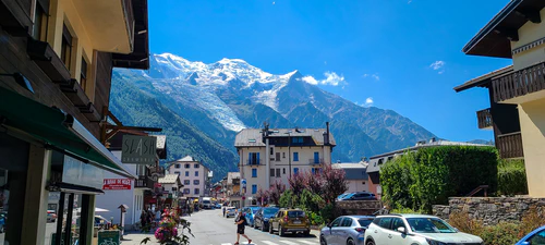
<svg viewBox="0 0 545 245">
<path fill-rule="evenodd" d="M 543 9 L 540 13 L 542 20 L 545 20 L 545 9 Z M 511 41 L 511 49 L 514 50 L 544 37 L 545 23 L 542 22 L 538 24 L 534 24 L 529 21 L 519 29 L 519 40 Z M 543 61 L 545 61 L 545 44 L 513 54 L 514 70 L 521 70 Z"/>
</svg>

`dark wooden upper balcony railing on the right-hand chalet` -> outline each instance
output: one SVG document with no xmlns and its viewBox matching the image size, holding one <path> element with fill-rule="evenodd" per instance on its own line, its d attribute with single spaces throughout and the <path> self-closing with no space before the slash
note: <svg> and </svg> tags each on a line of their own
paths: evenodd
<svg viewBox="0 0 545 245">
<path fill-rule="evenodd" d="M 500 102 L 545 89 L 545 63 L 540 63 L 492 81 L 494 101 Z"/>
</svg>

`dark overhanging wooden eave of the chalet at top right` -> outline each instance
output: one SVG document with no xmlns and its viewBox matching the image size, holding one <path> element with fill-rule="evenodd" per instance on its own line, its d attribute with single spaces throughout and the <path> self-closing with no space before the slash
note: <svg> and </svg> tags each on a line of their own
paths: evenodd
<svg viewBox="0 0 545 245">
<path fill-rule="evenodd" d="M 543 0 L 512 0 L 492 19 L 462 51 L 472 56 L 512 58 L 511 40 L 519 40 L 518 29 L 529 20 L 541 22 Z"/>
</svg>

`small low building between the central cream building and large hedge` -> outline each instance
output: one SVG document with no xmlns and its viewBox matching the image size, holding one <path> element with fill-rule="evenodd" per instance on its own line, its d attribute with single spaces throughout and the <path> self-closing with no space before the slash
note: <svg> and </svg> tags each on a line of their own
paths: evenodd
<svg viewBox="0 0 545 245">
<path fill-rule="evenodd" d="M 348 182 L 348 193 L 370 191 L 367 162 L 334 163 L 331 168 L 344 171 L 344 177 Z"/>
</svg>

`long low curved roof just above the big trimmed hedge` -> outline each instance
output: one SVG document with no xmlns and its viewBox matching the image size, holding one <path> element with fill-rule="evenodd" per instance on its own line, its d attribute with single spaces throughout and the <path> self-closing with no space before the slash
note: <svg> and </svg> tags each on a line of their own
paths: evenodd
<svg viewBox="0 0 545 245">
<path fill-rule="evenodd" d="M 449 140 L 444 140 L 439 139 L 436 142 L 425 142 L 425 143 L 416 143 L 415 146 L 412 147 L 407 147 L 403 149 L 398 149 L 395 151 L 382 154 L 382 155 L 376 155 L 370 158 L 368 166 L 367 166 L 367 173 L 374 173 L 380 171 L 380 167 L 383 163 L 386 163 L 388 161 L 388 158 L 392 158 L 396 156 L 403 155 L 407 151 L 414 151 L 420 148 L 426 148 L 426 147 L 436 147 L 436 146 L 480 146 L 480 147 L 494 147 L 491 145 L 483 145 L 483 144 L 474 144 L 474 143 L 465 143 L 465 142 L 449 142 Z"/>
</svg>

